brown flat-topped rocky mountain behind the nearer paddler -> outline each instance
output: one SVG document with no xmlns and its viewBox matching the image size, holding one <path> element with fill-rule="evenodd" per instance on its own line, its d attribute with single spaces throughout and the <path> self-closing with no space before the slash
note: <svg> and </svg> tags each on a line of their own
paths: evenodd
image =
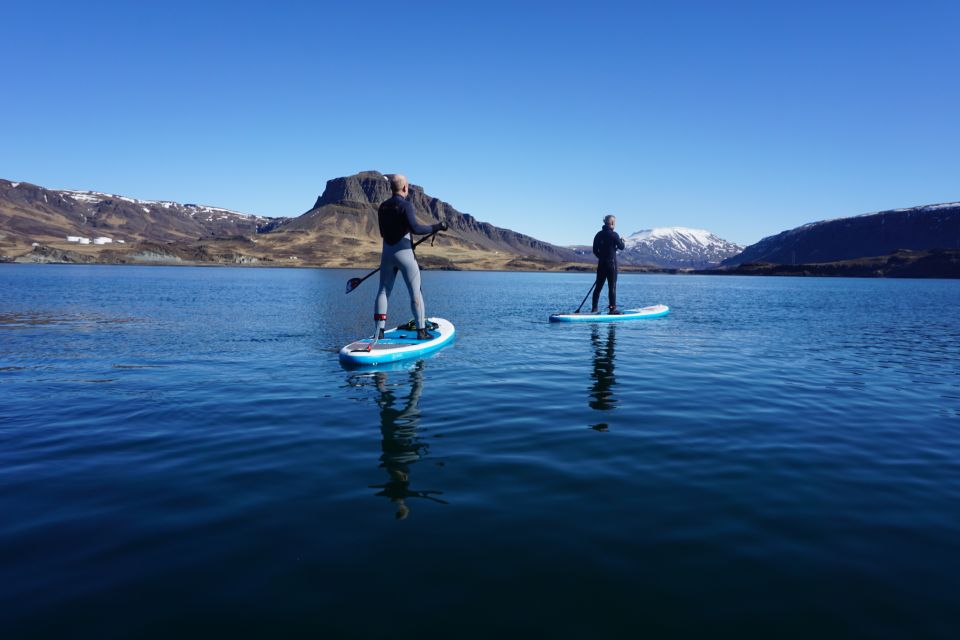
<svg viewBox="0 0 960 640">
<path fill-rule="evenodd" d="M 271 231 L 263 242 L 281 243 L 297 255 L 329 266 L 375 264 L 381 239 L 377 208 L 391 196 L 386 176 L 362 171 L 327 181 L 313 207 Z M 554 268 L 582 258 L 565 247 L 480 222 L 472 215 L 410 185 L 410 202 L 425 224 L 445 221 L 449 230 L 429 249 L 418 250 L 427 266 L 447 268 Z"/>
</svg>

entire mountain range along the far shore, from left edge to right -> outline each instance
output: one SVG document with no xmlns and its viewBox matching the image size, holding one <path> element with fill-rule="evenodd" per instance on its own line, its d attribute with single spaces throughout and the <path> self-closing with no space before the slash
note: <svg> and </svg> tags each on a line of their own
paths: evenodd
<svg viewBox="0 0 960 640">
<path fill-rule="evenodd" d="M 0 261 L 369 267 L 380 255 L 377 206 L 389 196 L 385 176 L 366 171 L 328 181 L 299 217 L 265 218 L 0 179 Z M 418 250 L 426 267 L 592 271 L 590 247 L 557 247 L 480 222 L 416 185 L 410 199 L 422 222 L 443 220 L 450 226 L 435 244 Z M 95 239 L 105 246 L 94 246 Z M 739 247 L 700 229 L 647 229 L 626 241 L 625 270 L 702 270 L 722 259 L 725 272 L 737 265 L 779 264 L 805 265 L 802 272 L 823 275 L 863 269 L 888 276 L 938 269 L 949 274 L 951 251 L 960 249 L 960 203 L 814 222 L 726 258 Z M 844 262 L 878 256 L 882 259 L 862 264 Z M 844 264 L 835 266 L 839 263 Z M 919 266 L 904 266 L 915 263 Z M 824 264 L 833 266 L 809 267 Z M 784 273 L 765 266 L 738 272 Z"/>
</svg>

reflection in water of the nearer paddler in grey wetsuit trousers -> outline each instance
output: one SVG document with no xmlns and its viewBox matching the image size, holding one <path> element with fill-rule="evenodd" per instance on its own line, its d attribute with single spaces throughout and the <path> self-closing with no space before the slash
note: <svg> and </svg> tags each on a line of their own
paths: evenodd
<svg viewBox="0 0 960 640">
<path fill-rule="evenodd" d="M 410 394 L 398 400 L 395 393 L 398 385 L 391 386 L 385 372 L 374 373 L 378 391 L 377 404 L 380 406 L 380 431 L 383 434 L 380 442 L 383 455 L 380 456 L 380 462 L 390 479 L 386 484 L 372 485 L 371 488 L 380 489 L 377 495 L 386 496 L 396 505 L 398 520 L 410 515 L 408 498 L 426 498 L 447 504 L 434 497 L 442 494 L 442 491 L 410 489 L 410 465 L 424 457 L 428 449 L 427 443 L 423 442 L 417 433 L 420 421 L 418 405 L 423 391 L 423 362 L 418 362 L 410 370 L 409 377 Z"/>
</svg>

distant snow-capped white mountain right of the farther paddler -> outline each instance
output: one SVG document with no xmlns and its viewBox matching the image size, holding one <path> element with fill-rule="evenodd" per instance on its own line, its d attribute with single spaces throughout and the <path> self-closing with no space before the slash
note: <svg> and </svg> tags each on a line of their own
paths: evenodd
<svg viewBox="0 0 960 640">
<path fill-rule="evenodd" d="M 624 264 L 650 264 L 680 269 L 713 267 L 743 247 L 704 229 L 661 227 L 643 229 L 624 238 Z"/>
</svg>

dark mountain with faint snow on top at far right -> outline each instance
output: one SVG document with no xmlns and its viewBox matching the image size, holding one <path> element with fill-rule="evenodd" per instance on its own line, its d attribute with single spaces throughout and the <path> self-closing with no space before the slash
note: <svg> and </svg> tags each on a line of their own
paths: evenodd
<svg viewBox="0 0 960 640">
<path fill-rule="evenodd" d="M 764 238 L 724 265 L 810 264 L 887 256 L 897 250 L 960 248 L 960 202 L 812 222 Z"/>
</svg>

